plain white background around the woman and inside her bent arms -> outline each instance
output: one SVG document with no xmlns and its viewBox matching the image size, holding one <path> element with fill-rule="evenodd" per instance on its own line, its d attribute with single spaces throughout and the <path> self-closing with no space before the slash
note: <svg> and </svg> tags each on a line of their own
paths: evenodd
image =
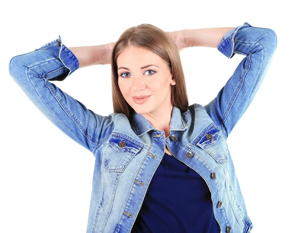
<svg viewBox="0 0 293 233">
<path fill-rule="evenodd" d="M 285 1 L 283 1 L 285 2 Z M 292 12 L 276 1 L 9 1 L 1 13 L 0 232 L 82 233 L 87 226 L 94 156 L 64 135 L 9 75 L 12 57 L 61 35 L 66 47 L 116 41 L 150 23 L 164 31 L 271 28 L 277 48 L 251 106 L 228 138 L 253 233 L 292 231 Z M 290 23 L 291 21 L 291 23 Z M 216 97 L 239 62 L 216 48 L 181 53 L 189 105 Z M 113 112 L 110 64 L 52 81 L 88 109 Z"/>
</svg>

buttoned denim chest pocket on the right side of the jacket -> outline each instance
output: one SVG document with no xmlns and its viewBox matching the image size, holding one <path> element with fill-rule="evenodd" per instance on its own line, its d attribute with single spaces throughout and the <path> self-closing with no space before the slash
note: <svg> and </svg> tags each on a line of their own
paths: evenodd
<svg viewBox="0 0 293 233">
<path fill-rule="evenodd" d="M 215 126 L 205 132 L 204 136 L 199 139 L 196 145 L 206 151 L 218 163 L 228 161 L 227 141 L 222 136 L 222 132 Z"/>
</svg>

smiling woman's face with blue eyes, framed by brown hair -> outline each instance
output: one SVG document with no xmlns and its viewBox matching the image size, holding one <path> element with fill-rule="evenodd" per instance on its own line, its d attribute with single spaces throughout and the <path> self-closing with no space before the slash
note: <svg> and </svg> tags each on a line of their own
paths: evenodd
<svg viewBox="0 0 293 233">
<path fill-rule="evenodd" d="M 118 56 L 117 67 L 120 91 L 135 112 L 147 114 L 170 104 L 171 85 L 176 83 L 164 59 L 147 49 L 128 46 Z M 149 95 L 143 104 L 133 99 Z"/>
</svg>

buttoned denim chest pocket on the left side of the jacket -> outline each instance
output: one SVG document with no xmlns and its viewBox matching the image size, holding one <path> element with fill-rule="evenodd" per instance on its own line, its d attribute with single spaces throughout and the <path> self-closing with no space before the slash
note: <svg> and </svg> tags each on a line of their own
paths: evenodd
<svg viewBox="0 0 293 233">
<path fill-rule="evenodd" d="M 120 136 L 111 136 L 107 144 L 104 154 L 104 163 L 108 173 L 124 172 L 133 156 L 142 148 Z"/>
</svg>

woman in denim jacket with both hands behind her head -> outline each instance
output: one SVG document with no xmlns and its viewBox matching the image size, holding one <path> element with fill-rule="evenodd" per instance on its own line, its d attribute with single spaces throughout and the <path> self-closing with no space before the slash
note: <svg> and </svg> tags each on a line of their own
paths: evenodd
<svg viewBox="0 0 293 233">
<path fill-rule="evenodd" d="M 272 29 L 247 22 L 167 33 L 141 24 L 106 45 L 67 48 L 59 36 L 12 58 L 9 71 L 48 119 L 95 156 L 87 233 L 250 233 L 227 138 L 257 93 L 276 44 Z M 179 52 L 191 46 L 245 55 L 205 106 L 188 105 Z M 108 63 L 109 116 L 49 81 Z"/>
</svg>

